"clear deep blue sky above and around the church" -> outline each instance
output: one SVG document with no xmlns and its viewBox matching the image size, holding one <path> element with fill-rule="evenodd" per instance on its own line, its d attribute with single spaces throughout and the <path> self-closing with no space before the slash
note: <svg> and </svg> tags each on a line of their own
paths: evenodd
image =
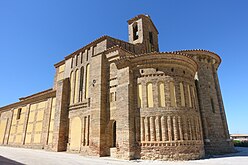
<svg viewBox="0 0 248 165">
<path fill-rule="evenodd" d="M 127 20 L 149 14 L 160 51 L 219 54 L 231 133 L 248 133 L 247 0 L 1 0 L 0 106 L 51 88 L 53 64 L 92 40 L 127 40 Z"/>
</svg>

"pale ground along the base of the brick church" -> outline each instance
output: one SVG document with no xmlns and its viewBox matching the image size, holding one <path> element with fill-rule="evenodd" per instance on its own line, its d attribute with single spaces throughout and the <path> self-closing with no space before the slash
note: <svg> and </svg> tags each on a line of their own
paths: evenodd
<svg viewBox="0 0 248 165">
<path fill-rule="evenodd" d="M 237 153 L 216 155 L 192 161 L 118 160 L 110 157 L 84 157 L 66 152 L 49 152 L 0 146 L 0 165 L 248 165 L 248 148 L 236 147 Z"/>
</svg>

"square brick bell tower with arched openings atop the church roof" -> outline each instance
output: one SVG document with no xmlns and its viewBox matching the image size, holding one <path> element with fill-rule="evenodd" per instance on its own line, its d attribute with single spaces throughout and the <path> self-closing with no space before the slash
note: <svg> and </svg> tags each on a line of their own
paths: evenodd
<svg viewBox="0 0 248 165">
<path fill-rule="evenodd" d="M 158 52 L 158 30 L 150 16 L 138 15 L 128 20 L 129 43 L 140 44 L 143 52 Z"/>
</svg>

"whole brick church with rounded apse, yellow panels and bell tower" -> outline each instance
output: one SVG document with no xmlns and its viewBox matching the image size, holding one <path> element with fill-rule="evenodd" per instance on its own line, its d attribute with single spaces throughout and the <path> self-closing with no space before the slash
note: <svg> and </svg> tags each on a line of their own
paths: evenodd
<svg viewBox="0 0 248 165">
<path fill-rule="evenodd" d="M 233 151 L 207 50 L 159 52 L 147 15 L 129 42 L 102 36 L 55 64 L 51 89 L 0 108 L 0 145 L 121 159 L 188 160 Z"/>
</svg>

